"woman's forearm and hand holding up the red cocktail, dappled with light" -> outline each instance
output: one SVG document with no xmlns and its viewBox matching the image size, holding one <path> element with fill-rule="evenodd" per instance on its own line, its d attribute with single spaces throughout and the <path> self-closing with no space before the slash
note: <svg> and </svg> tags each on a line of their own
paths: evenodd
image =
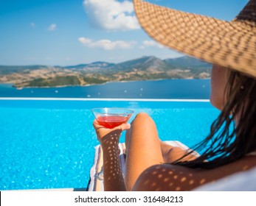
<svg viewBox="0 0 256 206">
<path fill-rule="evenodd" d="M 122 177 L 118 143 L 122 131 L 129 129 L 130 124 L 122 124 L 114 129 L 107 129 L 95 120 L 93 125 L 103 149 L 104 190 L 126 191 Z"/>
</svg>

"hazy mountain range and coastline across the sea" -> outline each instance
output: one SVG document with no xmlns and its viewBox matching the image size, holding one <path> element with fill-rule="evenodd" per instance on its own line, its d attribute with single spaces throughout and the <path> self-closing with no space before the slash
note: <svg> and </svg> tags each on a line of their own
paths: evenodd
<svg viewBox="0 0 256 206">
<path fill-rule="evenodd" d="M 210 72 L 210 64 L 192 57 L 161 60 L 145 56 L 117 64 L 99 61 L 69 66 L 0 65 L 0 83 L 18 88 L 55 87 L 148 79 L 205 79 Z"/>
</svg>

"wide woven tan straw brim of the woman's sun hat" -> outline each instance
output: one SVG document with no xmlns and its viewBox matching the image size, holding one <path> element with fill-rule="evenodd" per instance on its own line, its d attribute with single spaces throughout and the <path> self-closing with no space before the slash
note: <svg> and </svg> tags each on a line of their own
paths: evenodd
<svg viewBox="0 0 256 206">
<path fill-rule="evenodd" d="M 233 21 L 184 13 L 134 0 L 145 32 L 171 49 L 256 77 L 256 0 Z"/>
</svg>

